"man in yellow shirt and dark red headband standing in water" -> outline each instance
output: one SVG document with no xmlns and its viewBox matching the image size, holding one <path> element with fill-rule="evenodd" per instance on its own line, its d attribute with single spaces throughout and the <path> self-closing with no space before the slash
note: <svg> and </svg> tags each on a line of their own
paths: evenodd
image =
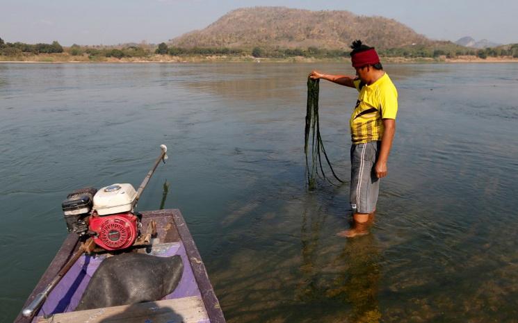
<svg viewBox="0 0 518 323">
<path fill-rule="evenodd" d="M 373 47 L 356 40 L 350 52 L 356 76 L 323 74 L 313 71 L 309 77 L 345 85 L 358 90 L 353 115 L 350 117 L 351 180 L 350 205 L 353 226 L 338 235 L 353 238 L 369 233 L 374 220 L 380 179 L 387 176 L 387 160 L 396 132 L 398 92 L 383 71 Z"/>
</svg>

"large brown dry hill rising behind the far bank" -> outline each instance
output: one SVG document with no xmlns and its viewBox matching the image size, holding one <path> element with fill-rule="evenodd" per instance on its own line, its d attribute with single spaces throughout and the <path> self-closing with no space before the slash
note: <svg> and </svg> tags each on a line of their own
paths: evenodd
<svg viewBox="0 0 518 323">
<path fill-rule="evenodd" d="M 233 10 L 200 31 L 170 40 L 177 47 L 346 49 L 361 39 L 377 49 L 432 44 L 412 28 L 385 17 L 349 11 L 310 11 L 284 7 Z"/>
</svg>

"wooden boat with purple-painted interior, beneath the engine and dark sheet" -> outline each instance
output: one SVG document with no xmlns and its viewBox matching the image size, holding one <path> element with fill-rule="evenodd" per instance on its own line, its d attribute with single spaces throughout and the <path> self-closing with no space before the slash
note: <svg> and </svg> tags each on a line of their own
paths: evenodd
<svg viewBox="0 0 518 323">
<path fill-rule="evenodd" d="M 88 281 L 108 254 L 83 254 L 63 279 L 56 285 L 42 308 L 33 318 L 21 313 L 16 323 L 97 323 L 97 322 L 152 322 L 152 323 L 223 323 L 222 310 L 207 276 L 202 258 L 197 251 L 184 217 L 177 209 L 154 210 L 142 213 L 143 226 L 156 222 L 157 237 L 148 247 L 134 248 L 131 252 L 155 256 L 181 256 L 184 272 L 177 288 L 161 300 L 90 310 L 74 311 Z M 79 236 L 70 233 L 38 285 L 26 301 L 31 303 L 42 292 L 72 255 L 79 249 Z M 24 308 L 25 308 L 24 306 Z"/>
</svg>

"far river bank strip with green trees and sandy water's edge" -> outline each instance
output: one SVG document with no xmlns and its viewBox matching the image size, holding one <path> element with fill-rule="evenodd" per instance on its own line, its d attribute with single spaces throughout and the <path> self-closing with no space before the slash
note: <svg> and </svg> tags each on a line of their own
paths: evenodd
<svg viewBox="0 0 518 323">
<path fill-rule="evenodd" d="M 444 44 L 412 44 L 378 51 L 383 63 L 518 63 L 518 44 L 487 49 Z M 62 47 L 52 44 L 5 43 L 0 38 L 0 63 L 348 63 L 341 49 L 236 49 L 227 47 L 170 47 L 168 44 Z"/>
</svg>

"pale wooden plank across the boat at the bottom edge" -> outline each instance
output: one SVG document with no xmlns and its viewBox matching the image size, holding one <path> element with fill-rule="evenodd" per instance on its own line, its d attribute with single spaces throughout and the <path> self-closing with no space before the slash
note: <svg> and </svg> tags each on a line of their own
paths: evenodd
<svg viewBox="0 0 518 323">
<path fill-rule="evenodd" d="M 199 323 L 208 315 L 199 296 L 54 314 L 38 323 Z"/>
</svg>

